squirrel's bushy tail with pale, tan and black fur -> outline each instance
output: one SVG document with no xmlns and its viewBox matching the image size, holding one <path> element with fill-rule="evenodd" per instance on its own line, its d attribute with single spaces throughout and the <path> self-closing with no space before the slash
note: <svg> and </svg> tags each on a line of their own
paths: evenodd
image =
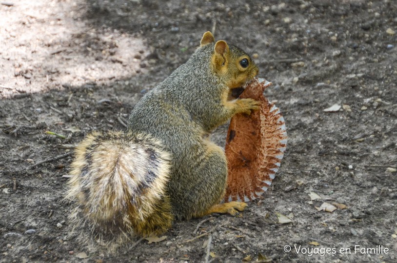
<svg viewBox="0 0 397 263">
<path fill-rule="evenodd" d="M 171 156 L 144 134 L 94 132 L 76 148 L 67 198 L 103 233 L 158 235 L 171 227 Z M 73 215 L 72 215 L 73 216 Z"/>
</svg>

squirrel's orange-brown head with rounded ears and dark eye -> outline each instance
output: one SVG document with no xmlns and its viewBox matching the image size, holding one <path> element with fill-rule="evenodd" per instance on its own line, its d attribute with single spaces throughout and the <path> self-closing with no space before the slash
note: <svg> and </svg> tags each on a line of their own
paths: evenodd
<svg viewBox="0 0 397 263">
<path fill-rule="evenodd" d="M 204 33 L 200 46 L 215 42 L 211 32 Z M 251 57 L 234 45 L 228 45 L 219 40 L 214 45 L 211 56 L 211 66 L 214 74 L 226 81 L 229 88 L 238 88 L 258 75 L 259 69 Z"/>
</svg>

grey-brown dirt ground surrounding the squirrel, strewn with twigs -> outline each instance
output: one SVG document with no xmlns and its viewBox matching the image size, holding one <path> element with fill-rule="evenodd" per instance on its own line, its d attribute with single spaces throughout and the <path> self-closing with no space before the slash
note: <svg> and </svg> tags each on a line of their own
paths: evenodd
<svg viewBox="0 0 397 263">
<path fill-rule="evenodd" d="M 211 230 L 214 263 L 256 262 L 259 253 L 262 262 L 397 262 L 396 1 L 7 2 L 0 262 L 204 262 L 209 236 L 188 240 Z M 93 130 L 123 130 L 119 120 L 214 28 L 216 39 L 258 54 L 259 77 L 273 82 L 265 95 L 289 136 L 273 189 L 241 217 L 214 216 L 196 235 L 202 219 L 174 223 L 162 242 L 132 247 L 133 239 L 108 254 L 88 228 L 72 233 L 63 201 L 72 156 L 37 163 L 71 153 Z M 324 112 L 334 104 L 337 112 Z M 224 145 L 226 130 L 212 139 Z M 311 203 L 311 192 L 320 199 Z M 347 208 L 318 211 L 323 202 Z M 293 222 L 278 223 L 276 213 Z"/>
</svg>

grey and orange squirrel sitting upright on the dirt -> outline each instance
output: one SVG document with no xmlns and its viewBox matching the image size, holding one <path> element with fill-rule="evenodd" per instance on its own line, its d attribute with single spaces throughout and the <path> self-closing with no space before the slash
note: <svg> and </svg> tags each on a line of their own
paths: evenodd
<svg viewBox="0 0 397 263">
<path fill-rule="evenodd" d="M 208 136 L 259 102 L 232 99 L 258 74 L 251 57 L 205 32 L 188 61 L 133 108 L 127 131 L 94 132 L 76 148 L 66 198 L 92 227 L 148 237 L 173 221 L 237 215 L 244 202 L 220 203 L 227 161 Z"/>
</svg>

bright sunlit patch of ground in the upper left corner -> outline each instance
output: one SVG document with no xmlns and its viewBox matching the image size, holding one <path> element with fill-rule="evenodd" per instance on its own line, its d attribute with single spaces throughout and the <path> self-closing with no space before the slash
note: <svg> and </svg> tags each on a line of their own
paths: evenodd
<svg viewBox="0 0 397 263">
<path fill-rule="evenodd" d="M 93 26 L 73 1 L 0 6 L 0 98 L 129 79 L 146 70 L 144 40 Z"/>
</svg>

